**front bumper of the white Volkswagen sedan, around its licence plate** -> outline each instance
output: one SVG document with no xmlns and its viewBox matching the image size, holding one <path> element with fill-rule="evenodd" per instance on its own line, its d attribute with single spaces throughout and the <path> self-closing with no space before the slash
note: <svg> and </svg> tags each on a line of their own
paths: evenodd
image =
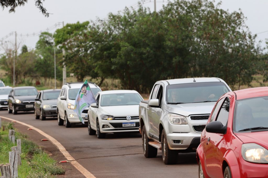
<svg viewBox="0 0 268 178">
<path fill-rule="evenodd" d="M 135 123 L 134 127 L 123 127 L 123 123 Z M 115 133 L 115 132 L 136 132 L 139 131 L 140 122 L 139 119 L 127 120 L 99 120 L 101 133 Z M 104 128 L 104 126 L 109 126 Z"/>
</svg>

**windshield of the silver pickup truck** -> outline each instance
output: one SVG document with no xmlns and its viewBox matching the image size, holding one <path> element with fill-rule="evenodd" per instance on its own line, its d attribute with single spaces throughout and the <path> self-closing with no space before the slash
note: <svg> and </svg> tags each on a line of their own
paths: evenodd
<svg viewBox="0 0 268 178">
<path fill-rule="evenodd" d="M 229 89 L 222 82 L 182 83 L 166 87 L 168 104 L 215 102 Z"/>
</svg>

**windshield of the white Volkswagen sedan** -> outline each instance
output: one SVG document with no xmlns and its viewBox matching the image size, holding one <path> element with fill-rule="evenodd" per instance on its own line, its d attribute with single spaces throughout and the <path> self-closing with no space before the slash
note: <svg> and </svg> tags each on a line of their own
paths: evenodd
<svg viewBox="0 0 268 178">
<path fill-rule="evenodd" d="M 139 105 L 141 100 L 137 93 L 106 94 L 101 97 L 101 106 Z"/>
</svg>

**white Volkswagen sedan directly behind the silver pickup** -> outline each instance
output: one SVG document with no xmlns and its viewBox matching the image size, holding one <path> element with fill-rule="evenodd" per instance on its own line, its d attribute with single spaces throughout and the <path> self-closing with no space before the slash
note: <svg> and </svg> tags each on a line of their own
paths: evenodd
<svg viewBox="0 0 268 178">
<path fill-rule="evenodd" d="M 106 133 L 139 131 L 139 103 L 142 96 L 135 90 L 98 92 L 97 103 L 88 109 L 88 134 L 105 138 Z"/>
</svg>

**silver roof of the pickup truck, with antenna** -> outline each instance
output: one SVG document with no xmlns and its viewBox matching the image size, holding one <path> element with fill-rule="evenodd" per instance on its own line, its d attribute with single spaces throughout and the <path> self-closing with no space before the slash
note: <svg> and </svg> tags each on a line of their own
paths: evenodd
<svg viewBox="0 0 268 178">
<path fill-rule="evenodd" d="M 169 79 L 169 80 L 161 80 L 158 82 L 163 82 L 166 81 L 170 85 L 172 84 L 181 84 L 181 83 L 200 83 L 200 82 L 221 82 L 221 79 L 216 78 L 216 77 L 200 77 L 200 78 L 195 78 L 196 82 L 193 82 L 193 78 L 183 78 L 183 79 Z"/>
</svg>

